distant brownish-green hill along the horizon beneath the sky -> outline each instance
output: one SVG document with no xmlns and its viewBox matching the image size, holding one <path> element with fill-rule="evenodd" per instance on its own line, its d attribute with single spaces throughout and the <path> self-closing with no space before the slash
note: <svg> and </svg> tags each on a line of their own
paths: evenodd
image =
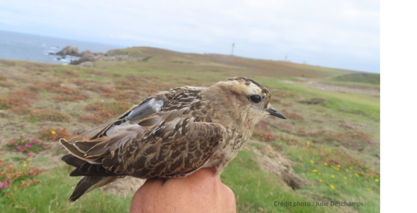
<svg viewBox="0 0 417 213">
<path fill-rule="evenodd" d="M 296 64 L 284 61 L 261 60 L 220 54 L 181 53 L 165 49 L 133 47 L 111 50 L 109 55 L 118 55 L 116 61 L 129 61 L 135 58 L 147 58 L 146 63 L 135 63 L 136 68 L 170 71 L 219 72 L 240 76 L 265 77 L 306 77 L 326 78 L 349 74 L 351 71 L 326 67 Z M 108 65 L 107 63 L 104 63 Z M 96 64 L 102 67 L 104 64 Z M 117 64 L 117 63 L 116 63 Z M 113 65 L 116 65 L 113 64 Z M 129 66 L 129 64 L 125 64 Z M 133 68 L 133 67 L 132 67 Z"/>
</svg>

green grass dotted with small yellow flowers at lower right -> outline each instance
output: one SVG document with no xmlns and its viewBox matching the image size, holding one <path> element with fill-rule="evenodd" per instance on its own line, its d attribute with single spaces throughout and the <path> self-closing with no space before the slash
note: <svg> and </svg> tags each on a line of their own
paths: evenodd
<svg viewBox="0 0 417 213">
<path fill-rule="evenodd" d="M 285 155 L 297 162 L 294 166 L 296 173 L 304 174 L 308 180 L 315 182 L 299 190 L 298 193 L 326 201 L 364 202 L 364 206 L 352 208 L 359 212 L 381 212 L 381 182 L 375 181 L 375 179 L 380 180 L 380 175 L 374 175 L 373 179 L 367 178 L 367 176 L 359 175 L 357 169 L 359 165 L 351 169 L 342 162 L 339 170 L 330 165 L 316 164 L 316 162 L 323 162 L 319 157 L 319 149 L 322 148 L 284 146 Z M 335 189 L 332 189 L 331 185 Z"/>
</svg>

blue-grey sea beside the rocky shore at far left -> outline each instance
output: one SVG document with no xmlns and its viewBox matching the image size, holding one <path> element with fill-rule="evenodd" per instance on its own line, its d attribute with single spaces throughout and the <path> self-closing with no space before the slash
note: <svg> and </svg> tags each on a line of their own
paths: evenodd
<svg viewBox="0 0 417 213">
<path fill-rule="evenodd" d="M 69 64 L 71 60 L 78 60 L 79 58 L 74 56 L 63 58 L 59 55 L 50 54 L 57 53 L 66 46 L 78 47 L 80 53 L 85 50 L 107 52 L 112 49 L 124 48 L 121 46 L 0 30 L 0 58 L 3 59 L 61 64 Z"/>
</svg>

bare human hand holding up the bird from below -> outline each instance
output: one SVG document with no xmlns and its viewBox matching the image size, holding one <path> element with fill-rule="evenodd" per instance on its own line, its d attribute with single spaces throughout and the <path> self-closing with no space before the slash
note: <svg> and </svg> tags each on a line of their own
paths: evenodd
<svg viewBox="0 0 417 213">
<path fill-rule="evenodd" d="M 185 178 L 146 180 L 132 198 L 130 213 L 234 213 L 236 201 L 212 169 Z"/>
</svg>

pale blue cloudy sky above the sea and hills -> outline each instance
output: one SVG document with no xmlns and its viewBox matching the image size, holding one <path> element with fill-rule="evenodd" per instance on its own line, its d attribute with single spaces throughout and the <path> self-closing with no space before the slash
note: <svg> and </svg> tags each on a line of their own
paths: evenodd
<svg viewBox="0 0 417 213">
<path fill-rule="evenodd" d="M 374 0 L 0 0 L 0 30 L 381 73 Z"/>
</svg>

